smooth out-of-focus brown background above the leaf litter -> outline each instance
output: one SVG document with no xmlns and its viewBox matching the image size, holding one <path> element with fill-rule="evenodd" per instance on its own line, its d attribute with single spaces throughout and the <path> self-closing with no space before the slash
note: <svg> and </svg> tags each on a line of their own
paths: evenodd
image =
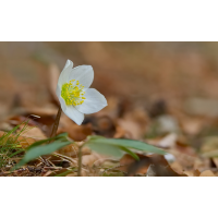
<svg viewBox="0 0 218 218">
<path fill-rule="evenodd" d="M 0 118 L 16 107 L 55 107 L 51 65 L 90 64 L 106 97 L 147 107 L 164 100 L 190 114 L 218 116 L 218 43 L 1 41 Z M 52 83 L 52 82 L 51 82 Z"/>
</svg>

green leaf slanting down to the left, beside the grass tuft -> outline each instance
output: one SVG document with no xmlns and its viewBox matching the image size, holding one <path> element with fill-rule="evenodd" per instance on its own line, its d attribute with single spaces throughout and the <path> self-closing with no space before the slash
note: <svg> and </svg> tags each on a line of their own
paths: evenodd
<svg viewBox="0 0 218 218">
<path fill-rule="evenodd" d="M 56 141 L 56 142 L 45 145 L 45 146 L 33 147 L 32 149 L 27 150 L 24 158 L 15 166 L 14 169 L 17 169 L 17 168 L 24 166 L 25 164 L 29 162 L 33 159 L 38 158 L 39 156 L 49 155 L 49 154 L 60 149 L 61 147 L 64 147 L 70 144 L 71 144 L 71 142 L 61 142 L 59 140 L 59 141 Z"/>
</svg>

